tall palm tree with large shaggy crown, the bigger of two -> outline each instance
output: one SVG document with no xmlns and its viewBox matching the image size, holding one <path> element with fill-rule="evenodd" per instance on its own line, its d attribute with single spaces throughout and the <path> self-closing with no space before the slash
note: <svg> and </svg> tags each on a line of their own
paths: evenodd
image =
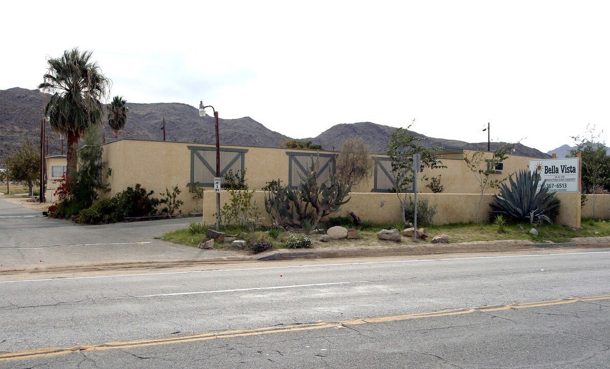
<svg viewBox="0 0 610 369">
<path fill-rule="evenodd" d="M 68 139 L 68 172 L 76 168 L 75 146 L 88 127 L 104 123 L 104 104 L 112 82 L 102 74 L 91 51 L 66 50 L 49 59 L 49 70 L 38 88 L 52 93 L 45 106 L 51 129 Z M 68 173 L 70 174 L 70 173 Z"/>
</svg>

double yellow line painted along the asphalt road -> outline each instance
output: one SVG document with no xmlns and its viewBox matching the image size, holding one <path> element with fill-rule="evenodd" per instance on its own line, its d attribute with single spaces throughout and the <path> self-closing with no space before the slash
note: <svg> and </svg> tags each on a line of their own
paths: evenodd
<svg viewBox="0 0 610 369">
<path fill-rule="evenodd" d="M 471 307 L 467 309 L 448 309 L 439 310 L 435 312 L 423 312 L 423 313 L 411 313 L 403 315 L 391 315 L 388 317 L 376 317 L 376 318 L 363 318 L 356 320 L 343 320 L 336 322 L 318 321 L 316 323 L 306 324 L 289 324 L 281 326 L 271 326 L 265 328 L 255 329 L 242 329 L 239 331 L 224 331 L 224 332 L 213 332 L 213 333 L 202 333 L 193 335 L 184 335 L 179 337 L 169 337 L 164 339 L 153 339 L 153 340 L 137 340 L 137 341 L 118 341 L 118 342 L 107 342 L 99 345 L 79 345 L 72 347 L 49 347 L 41 348 L 30 351 L 15 351 L 13 353 L 0 354 L 1 361 L 9 360 L 20 360 L 29 359 L 34 357 L 47 357 L 57 356 L 74 353 L 77 351 L 103 351 L 110 349 L 126 349 L 126 348 L 138 348 L 146 346 L 157 346 L 157 345 L 170 345 L 174 343 L 184 342 L 196 342 L 216 339 L 228 339 L 232 337 L 245 337 L 249 335 L 262 335 L 271 333 L 284 333 L 284 332 L 299 332 L 299 331 L 310 331 L 313 329 L 325 329 L 325 328 L 347 328 L 358 324 L 371 324 L 371 323 L 384 323 L 389 321 L 400 321 L 409 319 L 420 319 L 420 318 L 436 318 L 436 317 L 447 317 L 450 315 L 461 315 L 473 312 L 489 312 L 497 310 L 508 310 L 508 309 L 527 309 L 531 307 L 541 306 L 552 306 L 571 304 L 583 301 L 595 301 L 610 299 L 610 295 L 599 295 L 599 296 L 587 296 L 579 298 L 567 298 L 567 299 L 553 299 L 547 301 L 536 301 L 533 303 L 516 303 L 508 305 L 493 305 L 493 306 L 479 306 Z"/>
</svg>

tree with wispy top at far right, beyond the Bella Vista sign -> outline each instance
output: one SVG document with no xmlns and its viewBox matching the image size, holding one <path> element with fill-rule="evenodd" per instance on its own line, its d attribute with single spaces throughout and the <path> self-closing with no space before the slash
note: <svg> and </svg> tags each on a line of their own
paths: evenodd
<svg viewBox="0 0 610 369">
<path fill-rule="evenodd" d="M 593 217 L 595 218 L 595 202 L 597 194 L 604 190 L 610 191 L 610 156 L 606 143 L 600 140 L 603 131 L 596 133 L 595 126 L 589 127 L 584 135 L 572 136 L 576 149 L 570 151 L 569 157 L 576 157 L 581 152 L 583 193 L 593 195 Z"/>
</svg>

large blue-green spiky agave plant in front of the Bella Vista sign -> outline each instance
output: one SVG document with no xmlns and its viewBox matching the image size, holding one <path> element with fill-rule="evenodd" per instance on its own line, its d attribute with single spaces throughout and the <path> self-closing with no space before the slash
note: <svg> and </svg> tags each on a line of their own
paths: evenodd
<svg viewBox="0 0 610 369">
<path fill-rule="evenodd" d="M 500 193 L 493 195 L 493 202 L 490 204 L 492 217 L 502 215 L 515 221 L 529 221 L 529 223 L 539 224 L 542 221 L 551 223 L 549 214 L 551 210 L 559 206 L 558 198 L 554 192 L 548 192 L 546 181 L 542 181 L 540 191 L 540 177 L 533 172 L 521 170 L 515 178 L 509 178 L 510 187 L 503 183 Z"/>
</svg>

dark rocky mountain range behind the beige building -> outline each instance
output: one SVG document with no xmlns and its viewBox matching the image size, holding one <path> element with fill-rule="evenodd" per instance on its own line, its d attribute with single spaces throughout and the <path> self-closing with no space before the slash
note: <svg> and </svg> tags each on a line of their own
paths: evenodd
<svg viewBox="0 0 610 369">
<path fill-rule="evenodd" d="M 49 95 L 38 90 L 24 88 L 9 88 L 0 90 L 0 158 L 14 151 L 25 140 L 34 145 L 40 145 L 40 122 L 43 116 L 43 106 Z M 127 103 L 129 116 L 127 125 L 119 132 L 119 138 L 134 138 L 138 140 L 163 140 L 163 119 L 165 119 L 166 140 L 171 142 L 215 143 L 214 118 L 205 116 L 201 118 L 198 109 L 187 104 L 156 103 L 136 104 Z M 267 129 L 263 124 L 249 116 L 238 119 L 219 120 L 221 144 L 258 147 L 279 147 L 282 142 L 292 140 L 286 135 Z M 337 124 L 317 137 L 304 138 L 299 141 L 312 141 L 322 145 L 326 150 L 335 151 L 348 137 L 363 137 L 375 154 L 384 154 L 389 142 L 390 133 L 395 127 L 382 126 L 371 122 L 353 124 Z M 61 141 L 59 136 L 47 126 L 49 154 L 60 154 Z M 114 140 L 114 134 L 109 127 L 104 127 L 106 142 Z M 413 132 L 418 137 L 425 138 L 426 147 L 480 149 L 487 146 L 487 142 L 468 143 L 443 138 L 426 137 Z M 65 143 L 64 143 L 65 145 Z M 492 149 L 502 143 L 492 143 Z M 553 151 L 556 152 L 556 151 Z M 516 145 L 513 154 L 548 158 L 545 154 L 534 148 Z M 561 156 L 558 156 L 561 157 Z"/>
</svg>

